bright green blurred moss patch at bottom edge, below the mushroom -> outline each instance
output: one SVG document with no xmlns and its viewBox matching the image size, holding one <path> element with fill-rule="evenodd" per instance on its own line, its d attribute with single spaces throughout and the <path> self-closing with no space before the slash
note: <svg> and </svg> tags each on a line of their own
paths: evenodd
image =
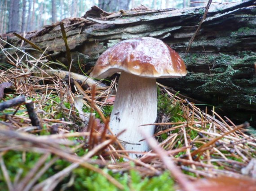
<svg viewBox="0 0 256 191">
<path fill-rule="evenodd" d="M 158 177 L 142 178 L 136 170 L 130 170 L 129 173 L 124 174 L 114 174 L 107 169 L 104 169 L 104 171 L 124 185 L 124 191 L 174 191 L 172 188 L 174 182 L 168 172 Z M 82 168 L 74 170 L 74 174 L 76 183 L 72 186 L 72 190 L 119 191 L 115 185 L 107 181 L 101 174 Z"/>
</svg>

